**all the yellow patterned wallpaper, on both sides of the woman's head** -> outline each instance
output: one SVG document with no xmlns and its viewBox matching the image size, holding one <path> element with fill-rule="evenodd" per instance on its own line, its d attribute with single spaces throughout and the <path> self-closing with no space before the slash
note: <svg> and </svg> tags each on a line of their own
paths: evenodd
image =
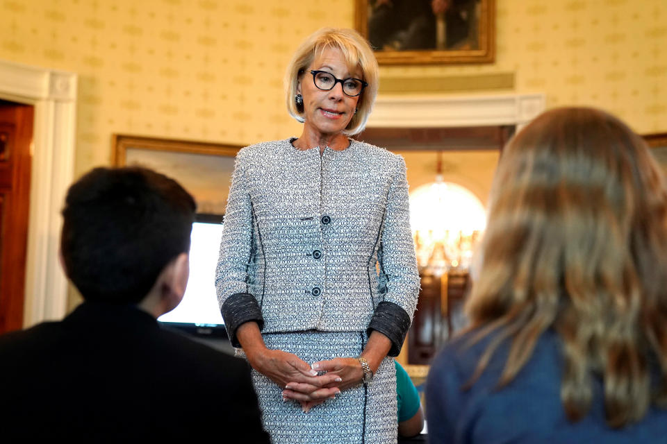
<svg viewBox="0 0 667 444">
<path fill-rule="evenodd" d="M 77 175 L 111 161 L 110 135 L 229 144 L 298 135 L 281 79 L 354 0 L 0 0 L 0 58 L 79 74 Z M 547 106 L 596 105 L 667 131 L 664 0 L 497 0 L 491 65 L 383 67 L 386 76 L 516 74 Z"/>
</svg>

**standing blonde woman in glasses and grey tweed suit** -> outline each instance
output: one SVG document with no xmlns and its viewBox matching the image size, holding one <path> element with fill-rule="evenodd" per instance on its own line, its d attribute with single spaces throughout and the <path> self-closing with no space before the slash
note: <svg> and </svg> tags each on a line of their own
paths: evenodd
<svg viewBox="0 0 667 444">
<path fill-rule="evenodd" d="M 286 76 L 302 134 L 238 153 L 216 285 L 274 444 L 397 439 L 391 357 L 419 275 L 404 160 L 349 138 L 377 87 L 359 33 L 318 31 Z"/>
</svg>

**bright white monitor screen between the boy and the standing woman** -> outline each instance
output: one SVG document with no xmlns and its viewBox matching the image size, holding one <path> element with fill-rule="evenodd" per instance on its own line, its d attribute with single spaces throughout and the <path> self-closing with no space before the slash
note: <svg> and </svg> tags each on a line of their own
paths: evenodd
<svg viewBox="0 0 667 444">
<path fill-rule="evenodd" d="M 198 335 L 226 334 L 215 294 L 222 219 L 217 214 L 197 214 L 190 238 L 190 278 L 186 294 L 178 307 L 160 316 L 158 321 Z"/>
</svg>

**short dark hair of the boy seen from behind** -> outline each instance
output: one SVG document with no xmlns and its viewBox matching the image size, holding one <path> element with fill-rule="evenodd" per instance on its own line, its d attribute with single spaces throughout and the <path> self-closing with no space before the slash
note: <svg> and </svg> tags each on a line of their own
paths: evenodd
<svg viewBox="0 0 667 444">
<path fill-rule="evenodd" d="M 190 250 L 195 200 L 149 169 L 96 168 L 67 191 L 60 248 L 86 300 L 140 302 L 160 272 Z"/>
</svg>

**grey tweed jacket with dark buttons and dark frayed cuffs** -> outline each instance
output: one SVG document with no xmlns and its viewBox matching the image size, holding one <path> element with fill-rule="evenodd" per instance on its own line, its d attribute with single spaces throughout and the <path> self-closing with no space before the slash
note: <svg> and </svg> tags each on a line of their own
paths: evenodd
<svg viewBox="0 0 667 444">
<path fill-rule="evenodd" d="M 285 139 L 236 157 L 215 284 L 231 342 L 263 333 L 378 330 L 400 352 L 419 274 L 402 157 L 350 139 L 299 151 Z"/>
</svg>

